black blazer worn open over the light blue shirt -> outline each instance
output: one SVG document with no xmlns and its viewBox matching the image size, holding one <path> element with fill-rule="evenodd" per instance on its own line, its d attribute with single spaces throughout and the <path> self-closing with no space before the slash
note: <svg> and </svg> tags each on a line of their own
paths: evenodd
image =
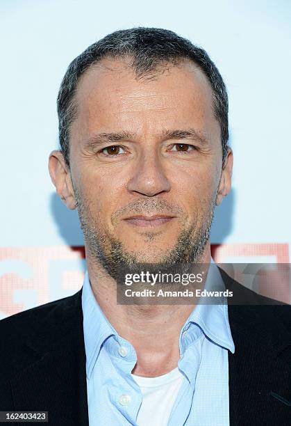
<svg viewBox="0 0 291 426">
<path fill-rule="evenodd" d="M 228 306 L 230 425 L 290 426 L 291 307 L 262 306 L 269 299 L 220 271 L 246 303 Z M 0 411 L 49 411 L 51 426 L 88 426 L 81 292 L 0 321 Z"/>
</svg>

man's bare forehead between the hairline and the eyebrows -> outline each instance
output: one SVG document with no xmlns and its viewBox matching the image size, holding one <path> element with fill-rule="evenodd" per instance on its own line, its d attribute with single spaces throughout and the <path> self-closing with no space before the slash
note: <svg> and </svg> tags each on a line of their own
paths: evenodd
<svg viewBox="0 0 291 426">
<path fill-rule="evenodd" d="M 167 63 L 138 78 L 130 61 L 103 59 L 79 79 L 76 104 L 73 127 L 78 125 L 85 134 L 128 126 L 139 132 L 189 125 L 208 133 L 218 126 L 210 83 L 192 61 Z"/>
</svg>

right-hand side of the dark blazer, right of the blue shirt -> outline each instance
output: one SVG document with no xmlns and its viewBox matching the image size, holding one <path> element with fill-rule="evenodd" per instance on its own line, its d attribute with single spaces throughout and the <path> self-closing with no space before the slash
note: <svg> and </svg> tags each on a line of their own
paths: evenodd
<svg viewBox="0 0 291 426">
<path fill-rule="evenodd" d="M 228 352 L 230 426 L 289 426 L 291 339 L 274 313 L 290 306 L 254 304 L 253 292 L 224 272 L 222 278 L 244 301 L 228 305 L 235 344 L 235 353 Z"/>
</svg>

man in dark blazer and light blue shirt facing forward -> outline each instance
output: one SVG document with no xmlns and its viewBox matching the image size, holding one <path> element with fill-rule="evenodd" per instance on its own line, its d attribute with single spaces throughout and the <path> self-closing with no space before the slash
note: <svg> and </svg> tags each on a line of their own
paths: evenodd
<svg viewBox="0 0 291 426">
<path fill-rule="evenodd" d="M 78 209 L 82 290 L 0 323 L 0 409 L 51 425 L 287 425 L 290 308 L 117 303 L 122 267 L 209 265 L 231 189 L 228 101 L 203 49 L 172 31 L 110 34 L 69 65 L 49 171 Z M 269 305 L 269 306 L 262 306 Z"/>
</svg>

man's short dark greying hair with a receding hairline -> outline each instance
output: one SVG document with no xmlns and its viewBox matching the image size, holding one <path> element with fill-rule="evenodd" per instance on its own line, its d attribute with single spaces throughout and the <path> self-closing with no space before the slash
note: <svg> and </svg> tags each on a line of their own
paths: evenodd
<svg viewBox="0 0 291 426">
<path fill-rule="evenodd" d="M 201 47 L 178 36 L 173 31 L 138 27 L 115 31 L 89 46 L 70 63 L 58 93 L 60 150 L 69 167 L 69 129 L 76 118 L 78 106 L 75 102 L 78 79 L 105 57 L 132 58 L 131 66 L 137 78 L 163 70 L 167 63 L 193 61 L 204 72 L 213 90 L 213 111 L 219 122 L 222 140 L 222 160 L 227 153 L 228 142 L 228 96 L 226 86 L 213 61 Z"/>
</svg>

